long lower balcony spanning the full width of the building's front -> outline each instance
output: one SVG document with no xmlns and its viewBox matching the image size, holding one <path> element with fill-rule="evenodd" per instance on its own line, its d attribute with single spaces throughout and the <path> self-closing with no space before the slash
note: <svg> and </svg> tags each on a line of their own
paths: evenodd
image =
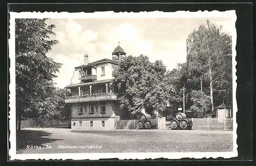
<svg viewBox="0 0 256 166">
<path fill-rule="evenodd" d="M 93 101 L 117 100 L 116 93 L 94 93 L 82 94 L 81 96 L 71 96 L 66 98 L 65 103 L 81 103 Z"/>
</svg>

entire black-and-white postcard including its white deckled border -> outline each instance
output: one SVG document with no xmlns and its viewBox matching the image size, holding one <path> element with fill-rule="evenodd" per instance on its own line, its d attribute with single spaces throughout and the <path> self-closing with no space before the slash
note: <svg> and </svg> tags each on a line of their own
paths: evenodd
<svg viewBox="0 0 256 166">
<path fill-rule="evenodd" d="M 11 12 L 11 159 L 236 157 L 236 18 Z"/>
</svg>

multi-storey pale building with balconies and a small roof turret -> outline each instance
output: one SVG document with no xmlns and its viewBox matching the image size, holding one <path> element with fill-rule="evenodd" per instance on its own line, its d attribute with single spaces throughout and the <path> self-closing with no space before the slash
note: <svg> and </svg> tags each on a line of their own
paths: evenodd
<svg viewBox="0 0 256 166">
<path fill-rule="evenodd" d="M 118 45 L 112 60 L 105 58 L 89 63 L 88 55 L 84 55 L 83 65 L 75 67 L 71 84 L 66 86 L 72 96 L 65 100 L 71 105 L 72 130 L 114 129 L 123 111 L 117 101 L 117 89 L 112 86 L 112 72 L 125 55 Z"/>
</svg>

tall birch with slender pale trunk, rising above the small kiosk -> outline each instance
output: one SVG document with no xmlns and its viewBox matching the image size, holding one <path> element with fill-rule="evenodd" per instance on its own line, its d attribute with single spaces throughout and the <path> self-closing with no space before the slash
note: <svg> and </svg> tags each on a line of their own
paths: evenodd
<svg viewBox="0 0 256 166">
<path fill-rule="evenodd" d="M 186 40 L 188 75 L 200 79 L 208 86 L 211 112 L 214 111 L 214 91 L 227 88 L 231 75 L 231 36 L 221 32 L 221 27 L 200 25 Z M 232 82 L 232 81 L 231 81 Z"/>
</svg>

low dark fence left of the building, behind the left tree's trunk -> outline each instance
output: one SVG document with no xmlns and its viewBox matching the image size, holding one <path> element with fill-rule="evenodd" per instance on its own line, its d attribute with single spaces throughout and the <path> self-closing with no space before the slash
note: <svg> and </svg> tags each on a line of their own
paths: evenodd
<svg viewBox="0 0 256 166">
<path fill-rule="evenodd" d="M 62 121 L 62 120 L 46 120 L 42 124 L 42 128 L 61 128 L 61 127 L 69 127 L 70 121 Z M 37 123 L 34 120 L 25 120 L 20 123 L 20 128 L 37 128 Z"/>
</svg>

